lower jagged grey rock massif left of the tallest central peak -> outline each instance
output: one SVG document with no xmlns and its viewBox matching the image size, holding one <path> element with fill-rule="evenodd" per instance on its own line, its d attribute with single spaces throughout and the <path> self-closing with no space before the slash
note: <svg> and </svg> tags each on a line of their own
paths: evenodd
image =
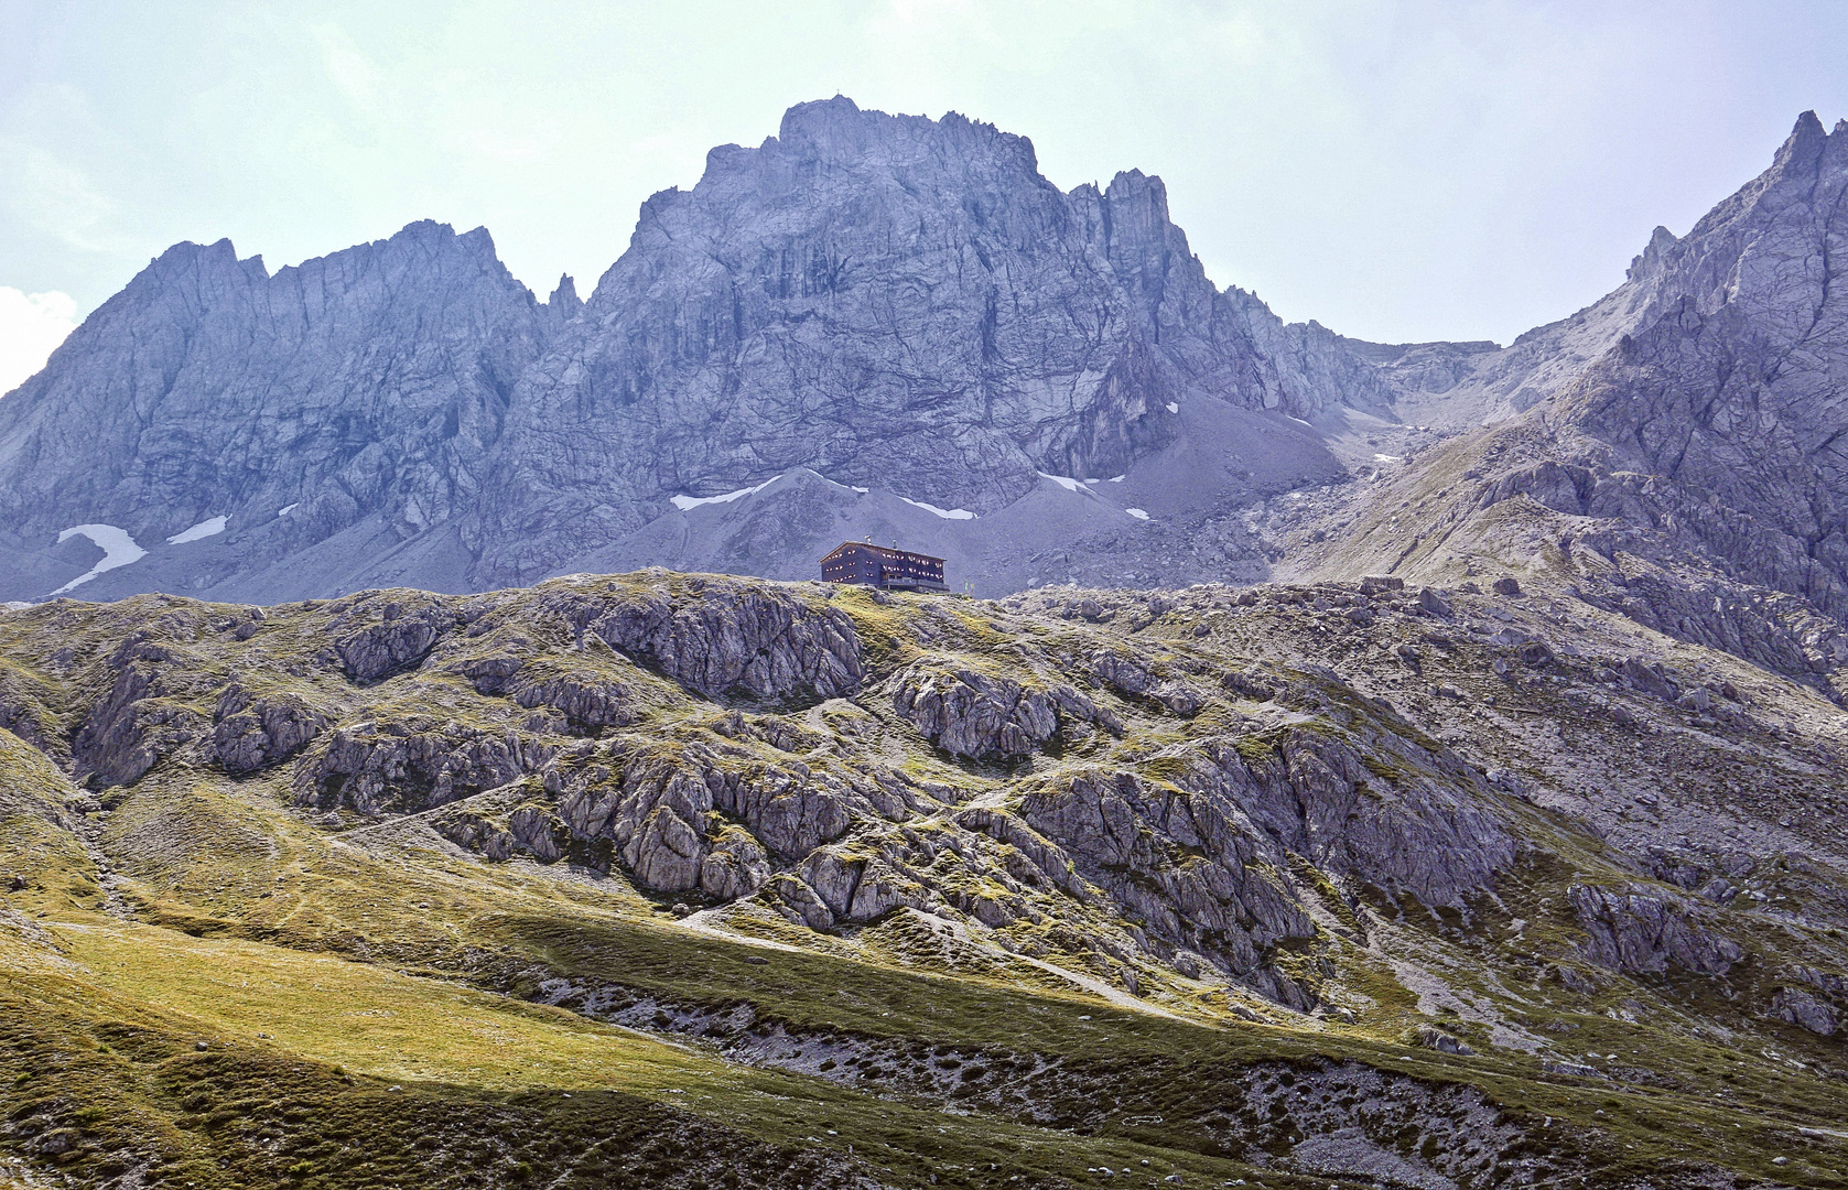
<svg viewBox="0 0 1848 1190">
<path fill-rule="evenodd" d="M 229 240 L 177 244 L 0 401 L 6 532 L 30 552 L 107 523 L 157 547 L 229 517 L 174 547 L 188 586 L 362 525 L 412 538 L 479 501 L 545 333 L 480 229 L 412 224 L 274 275 Z"/>
</svg>

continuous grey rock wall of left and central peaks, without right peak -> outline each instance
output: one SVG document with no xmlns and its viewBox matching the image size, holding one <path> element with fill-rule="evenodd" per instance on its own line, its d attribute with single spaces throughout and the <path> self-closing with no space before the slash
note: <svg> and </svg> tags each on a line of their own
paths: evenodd
<svg viewBox="0 0 1848 1190">
<path fill-rule="evenodd" d="M 172 248 L 0 405 L 0 599 L 83 575 L 83 525 L 152 551 L 94 597 L 480 589 L 793 468 L 991 512 L 1129 469 L 1196 403 L 1281 432 L 1386 399 L 1334 334 L 1218 290 L 1161 179 L 1061 192 L 1024 137 L 835 98 L 649 200 L 590 301 L 536 301 L 482 229 L 275 275 Z M 1334 469 L 1303 449 L 1284 482 Z"/>
</svg>

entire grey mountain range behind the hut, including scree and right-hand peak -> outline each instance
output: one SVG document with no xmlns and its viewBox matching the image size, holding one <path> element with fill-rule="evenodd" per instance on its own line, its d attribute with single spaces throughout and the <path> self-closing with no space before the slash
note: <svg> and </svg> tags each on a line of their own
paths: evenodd
<svg viewBox="0 0 1848 1190">
<path fill-rule="evenodd" d="M 0 405 L 6 595 L 83 575 L 52 547 L 76 525 L 152 549 L 94 595 L 798 575 L 833 532 L 994 584 L 1253 578 L 1297 547 L 1229 519 L 1249 501 L 1380 475 L 1406 427 L 1532 412 L 1604 443 L 1562 462 L 1602 451 L 1776 525 L 1781 560 L 1746 569 L 1833 601 L 1844 153 L 1798 120 L 1761 177 L 1508 349 L 1284 323 L 1207 279 L 1159 177 L 1061 192 L 1024 137 L 845 96 L 652 196 L 588 301 L 569 277 L 536 301 L 486 229 L 436 222 L 274 275 L 176 246 Z"/>
</svg>

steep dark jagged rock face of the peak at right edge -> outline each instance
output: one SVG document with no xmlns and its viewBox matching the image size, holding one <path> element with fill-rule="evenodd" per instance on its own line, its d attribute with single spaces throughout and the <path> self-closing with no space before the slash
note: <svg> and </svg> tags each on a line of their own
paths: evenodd
<svg viewBox="0 0 1848 1190">
<path fill-rule="evenodd" d="M 1813 115 L 1750 187 L 1661 240 L 1634 273 L 1660 294 L 1563 410 L 1610 443 L 1608 469 L 1660 475 L 1680 536 L 1756 584 L 1848 613 L 1848 298 L 1830 261 L 1848 227 L 1848 124 Z"/>
</svg>

